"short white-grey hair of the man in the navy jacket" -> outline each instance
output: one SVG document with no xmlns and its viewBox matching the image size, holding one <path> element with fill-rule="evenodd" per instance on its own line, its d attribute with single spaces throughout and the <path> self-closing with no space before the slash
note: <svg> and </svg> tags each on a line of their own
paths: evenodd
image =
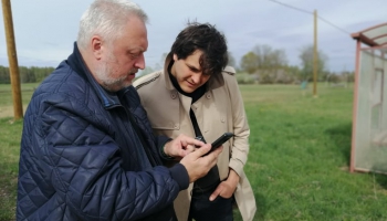
<svg viewBox="0 0 387 221">
<path fill-rule="evenodd" d="M 94 34 L 112 43 L 121 36 L 130 15 L 138 17 L 144 23 L 148 22 L 147 14 L 132 1 L 95 0 L 81 18 L 77 46 L 85 50 Z"/>
</svg>

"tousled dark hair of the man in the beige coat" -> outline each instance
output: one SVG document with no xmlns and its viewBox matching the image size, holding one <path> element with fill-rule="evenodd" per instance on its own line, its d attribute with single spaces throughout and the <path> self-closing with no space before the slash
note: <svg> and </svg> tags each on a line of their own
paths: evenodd
<svg viewBox="0 0 387 221">
<path fill-rule="evenodd" d="M 189 22 L 176 38 L 170 52 L 177 59 L 187 59 L 196 50 L 202 51 L 199 63 L 202 73 L 220 73 L 228 63 L 226 36 L 209 23 Z"/>
</svg>

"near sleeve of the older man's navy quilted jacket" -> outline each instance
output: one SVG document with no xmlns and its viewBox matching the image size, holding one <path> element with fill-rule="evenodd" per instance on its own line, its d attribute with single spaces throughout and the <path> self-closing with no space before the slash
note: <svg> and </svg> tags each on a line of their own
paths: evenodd
<svg viewBox="0 0 387 221">
<path fill-rule="evenodd" d="M 84 102 L 53 94 L 40 104 L 32 120 L 38 167 L 80 219 L 140 219 L 172 203 L 184 188 L 174 179 L 187 175 L 180 164 L 124 171 L 118 146 Z"/>
</svg>

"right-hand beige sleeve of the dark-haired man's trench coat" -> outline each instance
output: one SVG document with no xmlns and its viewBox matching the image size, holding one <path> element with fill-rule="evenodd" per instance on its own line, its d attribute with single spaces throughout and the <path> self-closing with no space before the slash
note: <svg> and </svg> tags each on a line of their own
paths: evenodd
<svg viewBox="0 0 387 221">
<path fill-rule="evenodd" d="M 244 110 L 243 98 L 234 76 L 224 74 L 228 86 L 229 97 L 231 99 L 232 124 L 233 124 L 233 143 L 231 147 L 231 158 L 229 167 L 239 176 L 243 172 L 243 167 L 249 155 L 249 136 L 250 128 Z"/>
</svg>

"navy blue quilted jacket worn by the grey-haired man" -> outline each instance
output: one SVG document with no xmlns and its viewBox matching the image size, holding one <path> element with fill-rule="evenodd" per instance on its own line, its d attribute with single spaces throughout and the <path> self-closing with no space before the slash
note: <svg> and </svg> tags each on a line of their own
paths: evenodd
<svg viewBox="0 0 387 221">
<path fill-rule="evenodd" d="M 17 219 L 172 220 L 189 178 L 180 164 L 158 166 L 168 139 L 153 135 L 133 86 L 108 93 L 95 82 L 75 43 L 24 115 Z"/>
</svg>

